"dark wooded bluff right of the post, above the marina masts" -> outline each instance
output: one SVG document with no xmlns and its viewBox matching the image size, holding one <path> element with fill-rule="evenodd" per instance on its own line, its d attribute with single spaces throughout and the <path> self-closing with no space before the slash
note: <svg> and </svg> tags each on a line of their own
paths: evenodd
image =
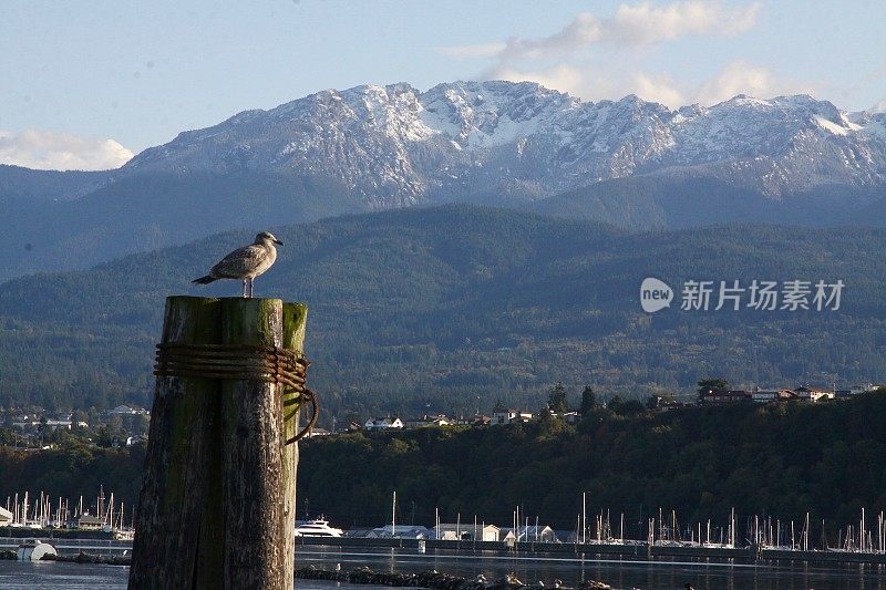
<svg viewBox="0 0 886 590">
<path fill-rule="evenodd" d="M 346 476 L 347 474 L 347 476 Z M 847 402 L 686 407 L 625 417 L 597 408 L 575 425 L 558 418 L 486 428 L 315 437 L 301 445 L 299 505 L 341 525 L 430 526 L 474 515 L 507 525 L 516 506 L 532 521 L 571 530 L 588 510 L 626 515 L 645 537 L 659 508 L 683 526 L 743 527 L 752 515 L 802 521 L 820 538 L 886 509 L 886 393 Z"/>
</svg>

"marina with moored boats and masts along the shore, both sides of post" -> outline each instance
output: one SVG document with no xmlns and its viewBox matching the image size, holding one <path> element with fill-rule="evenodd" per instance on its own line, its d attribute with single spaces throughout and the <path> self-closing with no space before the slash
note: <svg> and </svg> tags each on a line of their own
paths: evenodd
<svg viewBox="0 0 886 590">
<path fill-rule="evenodd" d="M 47 497 L 41 495 L 41 506 L 48 506 Z M 112 495 L 113 498 L 113 495 Z M 40 539 L 50 544 L 59 553 L 126 555 L 133 547 L 135 529 L 123 526 L 122 513 L 114 519 L 113 507 L 104 507 L 103 494 L 96 499 L 96 507 L 104 508 L 105 518 L 92 528 L 63 526 L 55 528 L 53 522 L 76 521 L 65 519 L 66 500 L 59 499 L 59 511 L 47 507 L 45 516 L 24 526 L 12 525 L 0 529 L 0 550 L 19 550 L 22 544 Z M 23 495 L 20 508 L 13 514 L 28 514 L 28 494 Z M 75 515 L 89 515 L 89 511 Z M 101 510 L 100 510 L 101 514 Z M 626 538 L 624 515 L 619 516 L 618 527 L 610 522 L 607 511 L 600 511 L 590 519 L 586 513 L 578 515 L 577 527 L 573 531 L 554 531 L 550 527 L 516 526 L 517 514 L 511 528 L 498 528 L 486 522 L 474 521 L 456 524 L 437 522 L 430 528 L 412 525 L 389 525 L 374 529 L 344 530 L 330 525 L 322 515 L 296 522 L 296 546 L 331 546 L 340 550 L 403 549 L 418 553 L 437 550 L 455 555 L 477 552 L 504 553 L 512 556 L 557 556 L 562 559 L 584 559 L 585 556 L 615 557 L 618 559 L 727 559 L 748 562 L 814 562 L 814 563 L 870 563 L 886 565 L 886 527 L 884 514 L 876 515 L 873 522 L 866 520 L 862 510 L 856 525 L 841 529 L 837 544 L 831 546 L 821 524 L 816 545 L 812 527 L 806 520 L 796 526 L 793 521 L 782 524 L 773 518 L 745 517 L 745 526 L 739 527 L 734 510 L 729 515 L 724 527 L 713 527 L 710 521 L 682 527 L 676 511 L 667 517 L 659 510 L 656 518 L 647 522 L 645 539 Z M 522 515 L 521 515 L 522 516 Z M 80 517 L 81 521 L 83 516 Z M 667 521 L 667 524 L 662 524 Z M 40 526 L 41 522 L 43 526 Z M 116 526 L 111 526 L 115 522 Z"/>
</svg>

